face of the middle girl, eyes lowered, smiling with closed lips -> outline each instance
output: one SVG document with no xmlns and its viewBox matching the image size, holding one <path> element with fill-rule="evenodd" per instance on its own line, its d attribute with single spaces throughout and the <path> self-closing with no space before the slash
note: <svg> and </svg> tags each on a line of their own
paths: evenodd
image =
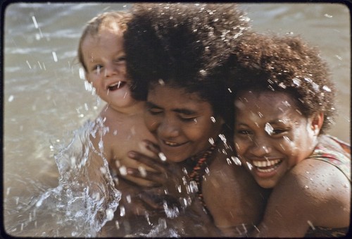
<svg viewBox="0 0 352 239">
<path fill-rule="evenodd" d="M 146 106 L 146 127 L 170 161 L 184 161 L 207 149 L 209 138 L 218 137 L 222 127 L 208 102 L 182 88 L 153 85 Z"/>
</svg>

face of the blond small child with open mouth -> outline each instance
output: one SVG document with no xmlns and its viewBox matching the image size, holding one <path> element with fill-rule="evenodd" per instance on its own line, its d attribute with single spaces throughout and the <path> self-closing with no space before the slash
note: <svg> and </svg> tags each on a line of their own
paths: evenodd
<svg viewBox="0 0 352 239">
<path fill-rule="evenodd" d="M 121 33 L 103 29 L 96 37 L 88 35 L 82 43 L 82 52 L 86 78 L 103 101 L 117 110 L 135 104 L 126 75 Z"/>
</svg>

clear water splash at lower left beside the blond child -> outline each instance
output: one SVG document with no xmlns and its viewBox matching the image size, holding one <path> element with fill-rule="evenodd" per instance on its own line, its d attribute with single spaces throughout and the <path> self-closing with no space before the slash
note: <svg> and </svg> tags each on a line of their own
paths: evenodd
<svg viewBox="0 0 352 239">
<path fill-rule="evenodd" d="M 44 192 L 33 197 L 27 207 L 20 208 L 20 215 L 30 216 L 11 223 L 9 232 L 17 231 L 20 225 L 20 231 L 25 229 L 26 235 L 95 237 L 105 223 L 113 219 L 120 192 L 108 173 L 106 159 L 102 158 L 106 174 L 98 180 L 91 180 L 87 172 L 89 150 L 92 150 L 89 133 L 94 130 L 94 123 L 88 121 L 75 131 L 67 147 L 57 146 L 58 187 L 42 190 Z"/>
</svg>

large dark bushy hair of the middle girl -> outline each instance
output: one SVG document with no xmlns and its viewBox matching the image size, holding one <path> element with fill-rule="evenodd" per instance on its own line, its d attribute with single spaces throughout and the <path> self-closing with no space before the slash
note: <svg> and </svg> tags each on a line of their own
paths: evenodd
<svg viewBox="0 0 352 239">
<path fill-rule="evenodd" d="M 124 35 L 134 98 L 146 100 L 161 79 L 199 93 L 224 116 L 230 109 L 223 66 L 231 42 L 248 28 L 236 4 L 135 4 Z"/>
</svg>

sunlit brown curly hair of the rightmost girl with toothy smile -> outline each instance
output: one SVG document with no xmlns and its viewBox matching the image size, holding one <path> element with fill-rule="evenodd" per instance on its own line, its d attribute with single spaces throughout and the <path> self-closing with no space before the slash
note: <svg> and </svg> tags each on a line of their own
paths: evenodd
<svg viewBox="0 0 352 239">
<path fill-rule="evenodd" d="M 316 47 L 297 36 L 246 32 L 230 58 L 234 96 L 243 90 L 288 92 L 305 117 L 324 113 L 320 133 L 333 123 L 335 86 Z"/>
</svg>

